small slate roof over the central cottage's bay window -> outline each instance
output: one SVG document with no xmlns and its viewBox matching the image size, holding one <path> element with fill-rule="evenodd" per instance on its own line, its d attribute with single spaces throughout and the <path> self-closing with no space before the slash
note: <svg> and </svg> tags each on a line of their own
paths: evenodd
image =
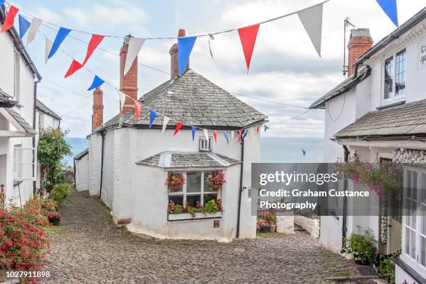
<svg viewBox="0 0 426 284">
<path fill-rule="evenodd" d="M 240 163 L 212 152 L 161 152 L 136 164 L 159 168 L 223 168 Z"/>
</svg>

